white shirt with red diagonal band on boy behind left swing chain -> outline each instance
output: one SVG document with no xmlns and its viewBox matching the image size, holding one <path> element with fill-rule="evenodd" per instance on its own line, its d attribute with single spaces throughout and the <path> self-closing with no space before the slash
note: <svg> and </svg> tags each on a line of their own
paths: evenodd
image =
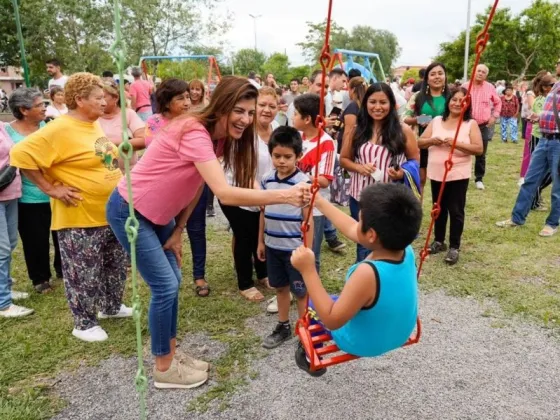
<svg viewBox="0 0 560 420">
<path fill-rule="evenodd" d="M 317 164 L 317 137 L 313 139 L 306 139 L 303 133 L 301 138 L 303 139 L 303 157 L 298 163 L 299 169 L 310 176 L 315 176 L 315 167 Z M 336 145 L 331 136 L 323 131 L 323 136 L 321 137 L 321 145 L 319 146 L 319 176 L 324 176 L 329 181 L 334 178 L 334 160 L 336 156 Z M 319 194 L 323 196 L 326 200 L 330 201 L 330 189 L 321 188 Z M 313 208 L 313 216 L 322 216 L 323 214 L 317 210 L 316 207 Z"/>
</svg>

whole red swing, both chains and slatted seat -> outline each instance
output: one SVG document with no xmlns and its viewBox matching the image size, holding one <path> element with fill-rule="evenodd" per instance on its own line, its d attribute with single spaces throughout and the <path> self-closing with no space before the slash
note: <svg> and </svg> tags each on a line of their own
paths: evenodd
<svg viewBox="0 0 560 420">
<path fill-rule="evenodd" d="M 422 266 L 426 257 L 428 256 L 428 248 L 430 243 L 430 238 L 434 229 L 435 221 L 439 216 L 441 211 L 441 200 L 443 196 L 443 191 L 445 188 L 445 183 L 447 180 L 447 175 L 451 168 L 453 167 L 453 152 L 455 151 L 455 145 L 457 144 L 457 137 L 459 135 L 459 130 L 461 128 L 461 124 L 463 122 L 463 116 L 470 104 L 471 101 L 471 88 L 473 83 L 474 74 L 476 72 L 476 67 L 480 62 L 480 56 L 482 55 L 484 49 L 486 48 L 486 44 L 488 43 L 489 34 L 488 30 L 490 28 L 490 24 L 494 19 L 494 15 L 496 13 L 496 8 L 498 7 L 499 0 L 494 1 L 494 6 L 490 11 L 490 15 L 488 16 L 488 20 L 486 21 L 486 25 L 482 32 L 477 36 L 476 39 L 476 58 L 473 65 L 472 75 L 469 82 L 469 87 L 467 89 L 467 95 L 463 98 L 461 103 L 461 118 L 457 124 L 457 129 L 455 131 L 455 136 L 453 137 L 453 143 L 451 145 L 451 150 L 449 151 L 449 156 L 445 161 L 445 172 L 443 175 L 441 189 L 438 195 L 438 199 L 434 204 L 432 211 L 431 211 L 431 222 L 430 227 L 428 229 L 428 234 L 426 236 L 426 242 L 424 243 L 424 248 L 420 253 L 420 262 L 418 264 L 418 272 L 417 278 L 420 278 L 420 273 L 422 271 Z M 321 137 L 323 135 L 323 128 L 325 126 L 325 118 L 323 117 L 324 113 L 324 101 L 325 101 L 325 81 L 327 77 L 327 68 L 333 64 L 333 60 L 331 59 L 330 54 L 330 46 L 329 46 L 329 38 L 330 38 L 330 31 L 331 31 L 331 11 L 332 11 L 332 0 L 329 0 L 329 12 L 327 15 L 327 27 L 325 30 L 325 44 L 323 45 L 323 49 L 321 51 L 321 68 L 323 70 L 323 74 L 321 77 L 321 98 L 320 98 L 320 113 L 317 116 L 316 126 L 319 128 L 319 134 L 317 139 L 317 161 L 315 164 L 315 175 L 313 176 L 313 184 L 311 186 L 311 201 L 310 201 L 310 211 L 307 214 L 305 221 L 302 223 L 301 231 L 303 234 L 303 244 L 307 246 L 307 232 L 309 231 L 309 219 L 312 215 L 311 209 L 315 204 L 315 196 L 317 195 L 317 191 L 319 191 L 319 161 L 320 161 L 320 145 L 321 145 Z M 309 308 L 309 296 L 307 297 L 307 307 Z M 311 365 L 311 370 L 316 371 L 322 368 L 326 368 L 328 366 L 337 365 L 339 363 L 348 362 L 350 360 L 357 359 L 357 356 L 352 354 L 342 352 L 338 346 L 332 342 L 332 338 L 330 334 L 324 330 L 324 328 L 319 324 L 311 324 L 311 319 L 309 315 L 309 311 L 307 310 L 303 317 L 301 317 L 296 324 L 296 333 L 305 349 L 307 356 L 309 357 L 309 362 Z M 420 336 L 422 334 L 422 324 L 420 323 L 420 319 L 416 320 L 416 334 L 411 336 L 406 343 L 403 344 L 403 347 L 409 346 L 411 344 L 416 344 L 420 340 Z M 323 345 L 323 343 L 325 345 Z M 329 344 L 331 343 L 331 344 Z M 330 355 L 330 357 L 329 357 Z"/>
</svg>

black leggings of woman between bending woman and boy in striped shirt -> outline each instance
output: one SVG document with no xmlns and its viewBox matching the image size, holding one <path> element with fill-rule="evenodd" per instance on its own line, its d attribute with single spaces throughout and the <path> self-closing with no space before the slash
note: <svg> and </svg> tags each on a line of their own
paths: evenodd
<svg viewBox="0 0 560 420">
<path fill-rule="evenodd" d="M 257 273 L 257 279 L 268 277 L 266 262 L 257 258 L 260 212 L 225 206 L 222 203 L 220 203 L 220 207 L 229 221 L 235 238 L 233 259 L 239 290 L 250 289 L 255 285 L 253 282 L 253 266 Z"/>
</svg>

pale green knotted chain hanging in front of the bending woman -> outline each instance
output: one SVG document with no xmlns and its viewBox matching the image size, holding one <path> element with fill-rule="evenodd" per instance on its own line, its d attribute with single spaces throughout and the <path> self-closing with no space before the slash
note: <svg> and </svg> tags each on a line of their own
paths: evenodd
<svg viewBox="0 0 560 420">
<path fill-rule="evenodd" d="M 115 24 L 115 43 L 111 46 L 111 54 L 117 63 L 119 73 L 119 93 L 122 119 L 122 143 L 119 146 L 119 153 L 124 159 L 124 169 L 126 185 L 128 191 L 128 211 L 129 216 L 126 220 L 125 229 L 130 242 L 130 259 L 132 264 L 132 310 L 136 322 L 136 349 L 138 352 L 138 370 L 136 372 L 136 390 L 140 397 L 140 418 L 146 419 L 146 391 L 148 379 L 144 372 L 143 348 L 142 348 L 142 327 L 141 327 L 141 307 L 140 297 L 138 296 L 138 279 L 136 277 L 136 239 L 138 237 L 138 219 L 134 214 L 134 200 L 132 197 L 132 186 L 130 182 L 130 161 L 133 155 L 133 148 L 128 140 L 127 121 L 126 121 L 126 97 L 124 93 L 124 66 L 126 47 L 121 33 L 121 11 L 120 0 L 113 0 L 114 5 L 114 24 Z"/>
</svg>

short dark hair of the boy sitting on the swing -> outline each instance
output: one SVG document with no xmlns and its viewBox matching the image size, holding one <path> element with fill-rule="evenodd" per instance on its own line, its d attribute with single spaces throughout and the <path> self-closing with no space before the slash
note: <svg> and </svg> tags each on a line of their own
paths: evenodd
<svg viewBox="0 0 560 420">
<path fill-rule="evenodd" d="M 362 232 L 373 229 L 381 245 L 401 251 L 414 241 L 422 224 L 422 206 L 403 184 L 373 184 L 360 194 Z"/>
</svg>

